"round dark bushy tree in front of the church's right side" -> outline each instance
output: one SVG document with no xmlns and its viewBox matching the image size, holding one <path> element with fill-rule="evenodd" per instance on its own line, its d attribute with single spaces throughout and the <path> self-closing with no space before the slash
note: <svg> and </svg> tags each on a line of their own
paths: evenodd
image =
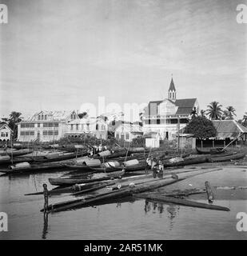
<svg viewBox="0 0 247 256">
<path fill-rule="evenodd" d="M 204 139 L 215 137 L 217 130 L 208 118 L 196 117 L 185 126 L 185 134 L 193 134 L 196 138 Z"/>
</svg>

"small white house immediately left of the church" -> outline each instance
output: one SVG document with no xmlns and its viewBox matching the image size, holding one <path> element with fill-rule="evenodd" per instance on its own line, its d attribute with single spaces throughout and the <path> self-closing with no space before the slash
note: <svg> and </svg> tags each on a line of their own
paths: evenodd
<svg viewBox="0 0 247 256">
<path fill-rule="evenodd" d="M 137 138 L 142 135 L 142 127 L 139 123 L 119 122 L 114 131 L 115 138 L 118 140 L 125 140 L 126 142 L 131 142 L 133 138 Z"/>
</svg>

